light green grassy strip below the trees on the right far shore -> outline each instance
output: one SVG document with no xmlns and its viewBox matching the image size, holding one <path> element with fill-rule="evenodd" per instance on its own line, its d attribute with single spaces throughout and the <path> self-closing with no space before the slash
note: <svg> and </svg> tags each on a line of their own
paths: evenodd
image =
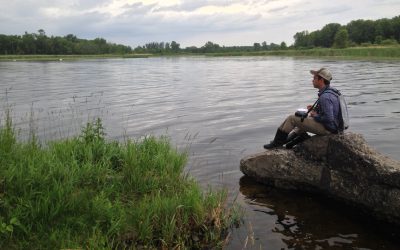
<svg viewBox="0 0 400 250">
<path fill-rule="evenodd" d="M 393 47 L 352 47 L 345 49 L 288 49 L 275 51 L 252 51 L 231 53 L 210 53 L 209 56 L 293 56 L 331 57 L 338 59 L 392 59 L 400 60 L 400 46 Z"/>
</svg>

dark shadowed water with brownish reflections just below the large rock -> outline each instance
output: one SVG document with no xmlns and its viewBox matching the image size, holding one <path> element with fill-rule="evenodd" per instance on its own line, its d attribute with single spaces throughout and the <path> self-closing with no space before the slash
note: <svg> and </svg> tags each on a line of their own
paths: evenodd
<svg viewBox="0 0 400 250">
<path fill-rule="evenodd" d="M 400 245 L 398 229 L 385 228 L 360 216 L 357 209 L 326 197 L 277 190 L 246 176 L 240 179 L 240 193 L 242 202 L 251 210 L 248 223 L 274 217 L 273 227 L 264 231 L 270 230 L 283 243 L 265 240 L 259 234 L 263 229 L 253 225 L 254 249 L 398 249 Z"/>
</svg>

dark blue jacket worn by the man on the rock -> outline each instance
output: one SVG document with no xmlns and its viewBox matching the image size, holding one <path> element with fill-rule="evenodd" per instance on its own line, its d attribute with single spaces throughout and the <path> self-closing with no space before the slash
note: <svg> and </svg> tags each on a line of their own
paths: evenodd
<svg viewBox="0 0 400 250">
<path fill-rule="evenodd" d="M 332 133 L 337 133 L 340 122 L 340 103 L 336 89 L 326 87 L 318 91 L 319 101 L 314 119 Z"/>
</svg>

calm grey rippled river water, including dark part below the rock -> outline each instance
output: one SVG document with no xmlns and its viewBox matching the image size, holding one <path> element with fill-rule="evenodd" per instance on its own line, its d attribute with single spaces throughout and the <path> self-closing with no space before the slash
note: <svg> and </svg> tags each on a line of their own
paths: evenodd
<svg viewBox="0 0 400 250">
<path fill-rule="evenodd" d="M 21 137 L 79 133 L 101 117 L 108 137 L 169 135 L 189 149 L 187 171 L 226 187 L 245 209 L 227 249 L 399 249 L 398 230 L 323 197 L 259 185 L 240 159 L 262 151 L 277 126 L 316 99 L 310 69 L 326 66 L 345 94 L 350 130 L 400 160 L 400 62 L 287 57 L 177 57 L 0 62 L 1 109 L 11 105 Z M 33 114 L 33 116 L 31 115 Z M 1 116 L 4 114 L 2 112 Z M 32 118 L 33 117 L 33 118 Z"/>
</svg>

